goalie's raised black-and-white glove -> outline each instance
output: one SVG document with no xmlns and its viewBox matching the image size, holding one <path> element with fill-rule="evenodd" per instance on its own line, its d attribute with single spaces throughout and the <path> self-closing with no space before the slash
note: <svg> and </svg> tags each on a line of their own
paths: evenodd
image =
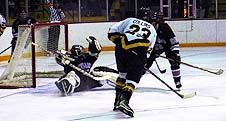
<svg viewBox="0 0 226 121">
<path fill-rule="evenodd" d="M 95 37 L 89 36 L 86 40 L 89 42 L 88 50 L 91 54 L 99 54 L 101 52 L 102 47 Z"/>
</svg>

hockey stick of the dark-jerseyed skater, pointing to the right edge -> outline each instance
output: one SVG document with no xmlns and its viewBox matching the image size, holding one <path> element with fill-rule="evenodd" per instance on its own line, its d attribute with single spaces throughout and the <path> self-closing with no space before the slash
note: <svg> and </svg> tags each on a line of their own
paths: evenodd
<svg viewBox="0 0 226 121">
<path fill-rule="evenodd" d="M 168 59 L 168 60 L 170 60 L 170 61 L 179 62 L 179 63 L 184 64 L 184 65 L 186 65 L 186 66 L 190 66 L 190 67 L 193 67 L 193 68 L 196 68 L 196 69 L 200 69 L 200 70 L 203 70 L 203 71 L 206 71 L 206 72 L 209 72 L 209 73 L 212 73 L 212 74 L 216 74 L 216 75 L 221 75 L 221 74 L 224 72 L 224 70 L 222 70 L 222 69 L 219 69 L 217 72 L 214 72 L 214 71 L 210 71 L 210 70 L 208 70 L 208 69 L 204 69 L 204 68 L 201 68 L 201 67 L 198 67 L 198 66 L 194 66 L 194 65 L 191 65 L 191 64 L 182 62 L 182 61 L 177 61 L 177 60 L 174 60 L 174 59 L 172 59 L 172 58 L 165 57 L 165 56 L 159 55 L 159 57 Z"/>
</svg>

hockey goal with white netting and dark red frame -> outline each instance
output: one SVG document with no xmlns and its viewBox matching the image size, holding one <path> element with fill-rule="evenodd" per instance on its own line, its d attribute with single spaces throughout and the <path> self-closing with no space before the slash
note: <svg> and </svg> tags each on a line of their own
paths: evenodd
<svg viewBox="0 0 226 121">
<path fill-rule="evenodd" d="M 14 53 L 0 76 L 0 88 L 35 88 L 37 78 L 62 76 L 63 67 L 56 63 L 53 55 L 44 51 L 55 53 L 60 49 L 68 50 L 67 23 L 20 25 Z"/>
</svg>

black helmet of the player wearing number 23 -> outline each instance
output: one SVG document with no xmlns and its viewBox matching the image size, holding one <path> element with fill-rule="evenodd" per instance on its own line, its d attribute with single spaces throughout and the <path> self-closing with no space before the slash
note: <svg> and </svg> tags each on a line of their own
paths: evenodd
<svg viewBox="0 0 226 121">
<path fill-rule="evenodd" d="M 148 21 L 150 18 L 150 9 L 145 7 L 139 8 L 137 11 L 137 18 Z"/>
</svg>

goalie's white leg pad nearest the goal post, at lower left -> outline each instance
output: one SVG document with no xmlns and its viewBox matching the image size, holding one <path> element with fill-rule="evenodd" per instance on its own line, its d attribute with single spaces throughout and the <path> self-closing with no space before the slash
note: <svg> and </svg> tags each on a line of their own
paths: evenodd
<svg viewBox="0 0 226 121">
<path fill-rule="evenodd" d="M 57 88 L 66 95 L 74 92 L 75 88 L 80 85 L 80 78 L 74 71 L 70 71 L 65 77 L 55 82 Z"/>
</svg>

